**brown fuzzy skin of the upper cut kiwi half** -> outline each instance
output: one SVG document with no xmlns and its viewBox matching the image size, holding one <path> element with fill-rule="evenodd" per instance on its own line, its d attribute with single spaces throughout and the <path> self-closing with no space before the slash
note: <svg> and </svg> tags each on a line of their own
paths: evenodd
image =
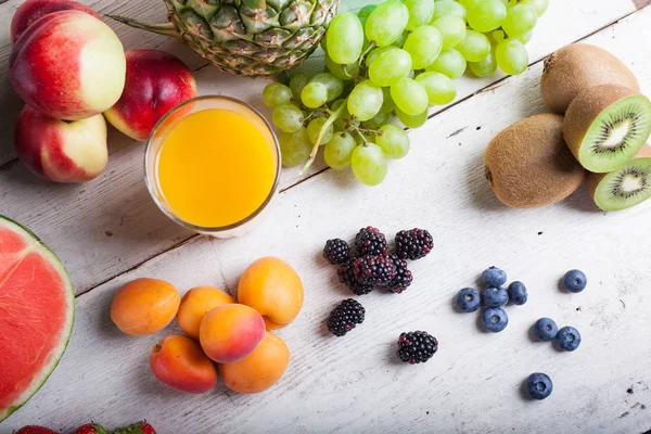
<svg viewBox="0 0 651 434">
<path fill-rule="evenodd" d="M 580 91 L 565 113 L 563 137 L 572 154 L 578 159 L 578 151 L 588 128 L 601 112 L 624 98 L 640 94 L 639 91 L 618 85 L 599 85 Z"/>
</svg>

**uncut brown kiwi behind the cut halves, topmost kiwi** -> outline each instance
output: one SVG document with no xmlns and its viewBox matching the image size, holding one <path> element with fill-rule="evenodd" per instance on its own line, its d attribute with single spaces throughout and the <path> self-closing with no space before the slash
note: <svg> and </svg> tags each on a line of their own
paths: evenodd
<svg viewBox="0 0 651 434">
<path fill-rule="evenodd" d="M 563 114 L 583 89 L 608 84 L 640 90 L 635 75 L 617 58 L 589 43 L 573 43 L 545 60 L 540 94 L 550 111 Z"/>
</svg>

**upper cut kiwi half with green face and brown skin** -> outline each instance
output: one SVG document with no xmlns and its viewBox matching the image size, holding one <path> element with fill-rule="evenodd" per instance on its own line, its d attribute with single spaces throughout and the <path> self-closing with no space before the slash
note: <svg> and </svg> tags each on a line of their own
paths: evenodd
<svg viewBox="0 0 651 434">
<path fill-rule="evenodd" d="M 613 171 L 651 133 L 651 101 L 637 90 L 599 85 L 582 90 L 565 113 L 563 135 L 578 162 L 595 173 Z"/>
</svg>

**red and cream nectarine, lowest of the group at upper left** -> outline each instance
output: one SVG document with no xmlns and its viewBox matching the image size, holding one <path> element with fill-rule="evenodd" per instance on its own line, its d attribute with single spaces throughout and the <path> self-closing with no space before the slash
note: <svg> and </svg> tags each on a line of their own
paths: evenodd
<svg viewBox="0 0 651 434">
<path fill-rule="evenodd" d="M 16 153 L 27 168 L 56 182 L 89 181 L 108 162 L 102 115 L 64 122 L 26 105 L 14 139 Z"/>
</svg>

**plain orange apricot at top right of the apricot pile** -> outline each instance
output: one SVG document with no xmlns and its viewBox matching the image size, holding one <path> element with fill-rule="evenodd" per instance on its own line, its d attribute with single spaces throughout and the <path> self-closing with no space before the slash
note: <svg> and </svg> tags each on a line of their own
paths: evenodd
<svg viewBox="0 0 651 434">
<path fill-rule="evenodd" d="M 301 311 L 303 283 L 291 265 L 277 257 L 264 257 L 242 275 L 238 301 L 259 311 L 267 329 L 281 329 Z"/>
</svg>

